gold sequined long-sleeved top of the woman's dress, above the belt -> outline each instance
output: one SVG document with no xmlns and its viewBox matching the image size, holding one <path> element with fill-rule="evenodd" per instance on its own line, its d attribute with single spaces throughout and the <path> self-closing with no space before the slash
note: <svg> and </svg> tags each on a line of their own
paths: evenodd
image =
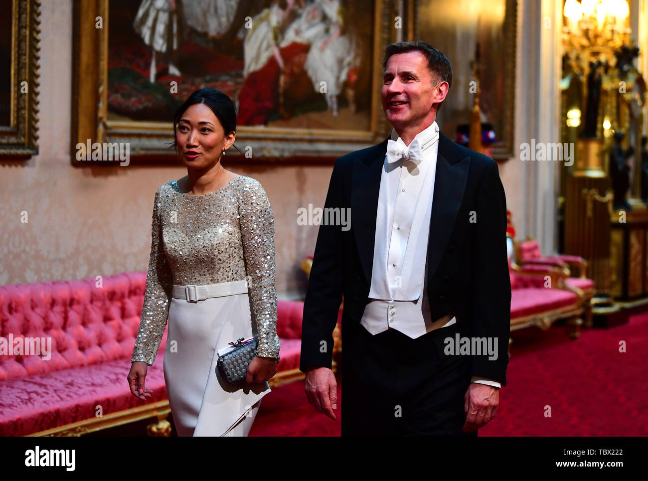
<svg viewBox="0 0 648 481">
<path fill-rule="evenodd" d="M 260 183 L 238 176 L 196 196 L 176 183 L 156 191 L 151 253 L 133 361 L 153 364 L 167 323 L 173 284 L 217 284 L 246 279 L 257 322 L 257 355 L 279 355 L 275 290 L 274 219 Z"/>
</svg>

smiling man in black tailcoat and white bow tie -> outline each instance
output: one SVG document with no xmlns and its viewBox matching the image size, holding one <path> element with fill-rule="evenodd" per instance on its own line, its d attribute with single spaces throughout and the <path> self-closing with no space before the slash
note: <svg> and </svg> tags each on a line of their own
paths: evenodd
<svg viewBox="0 0 648 481">
<path fill-rule="evenodd" d="M 343 436 L 476 436 L 506 384 L 511 284 L 497 165 L 443 135 L 446 56 L 392 43 L 381 97 L 390 137 L 336 160 L 304 305 L 308 401 Z M 342 316 L 343 403 L 330 370 Z"/>
</svg>

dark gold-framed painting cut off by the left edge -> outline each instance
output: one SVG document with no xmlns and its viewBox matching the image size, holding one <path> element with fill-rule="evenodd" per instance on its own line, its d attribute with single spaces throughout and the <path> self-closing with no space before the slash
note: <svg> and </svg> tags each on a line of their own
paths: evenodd
<svg viewBox="0 0 648 481">
<path fill-rule="evenodd" d="M 38 154 L 40 2 L 0 0 L 0 159 Z"/>
</svg>

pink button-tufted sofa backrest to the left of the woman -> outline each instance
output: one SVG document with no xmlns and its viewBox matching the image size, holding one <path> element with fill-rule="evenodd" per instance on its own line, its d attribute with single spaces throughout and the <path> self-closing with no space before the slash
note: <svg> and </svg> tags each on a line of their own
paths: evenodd
<svg viewBox="0 0 648 481">
<path fill-rule="evenodd" d="M 146 272 L 0 286 L 0 336 L 51 339 L 51 359 L 0 356 L 0 381 L 130 358 Z M 165 340 L 161 342 L 163 349 Z"/>
</svg>

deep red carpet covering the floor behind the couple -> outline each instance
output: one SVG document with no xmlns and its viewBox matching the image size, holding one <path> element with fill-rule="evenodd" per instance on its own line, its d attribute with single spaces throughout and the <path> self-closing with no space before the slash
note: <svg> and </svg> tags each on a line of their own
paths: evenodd
<svg viewBox="0 0 648 481">
<path fill-rule="evenodd" d="M 648 435 L 648 312 L 618 327 L 583 329 L 575 341 L 561 326 L 512 337 L 498 416 L 480 436 Z M 332 421 L 308 405 L 303 381 L 279 386 L 264 397 L 250 436 L 339 436 L 341 407 Z"/>
</svg>

